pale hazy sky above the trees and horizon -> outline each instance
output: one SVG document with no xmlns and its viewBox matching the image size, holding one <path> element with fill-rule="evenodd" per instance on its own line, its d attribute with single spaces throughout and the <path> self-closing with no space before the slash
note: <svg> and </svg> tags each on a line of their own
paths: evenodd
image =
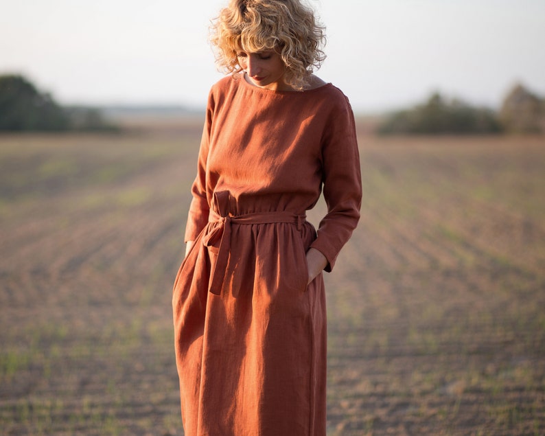
<svg viewBox="0 0 545 436">
<path fill-rule="evenodd" d="M 308 0 L 327 30 L 316 74 L 354 111 L 434 91 L 497 108 L 515 83 L 545 95 L 544 0 Z M 219 80 L 207 43 L 227 0 L 0 0 L 0 74 L 62 104 L 202 108 Z"/>
</svg>

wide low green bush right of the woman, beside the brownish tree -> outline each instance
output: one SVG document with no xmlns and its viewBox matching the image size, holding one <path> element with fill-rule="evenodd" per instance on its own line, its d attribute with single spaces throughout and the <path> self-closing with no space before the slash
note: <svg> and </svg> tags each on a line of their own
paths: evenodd
<svg viewBox="0 0 545 436">
<path fill-rule="evenodd" d="M 397 111 L 378 126 L 378 133 L 467 135 L 498 133 L 501 125 L 488 108 L 474 108 L 460 100 L 445 100 L 439 93 L 414 108 Z"/>
</svg>

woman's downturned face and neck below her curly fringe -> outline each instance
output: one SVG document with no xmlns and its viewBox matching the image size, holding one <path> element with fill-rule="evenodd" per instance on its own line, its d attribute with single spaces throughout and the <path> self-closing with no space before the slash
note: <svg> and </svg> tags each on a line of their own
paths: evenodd
<svg viewBox="0 0 545 436">
<path fill-rule="evenodd" d="M 244 70 L 251 84 L 256 87 L 275 91 L 291 91 L 292 87 L 284 82 L 286 65 L 274 50 L 248 53 L 237 51 L 238 65 Z"/>
</svg>

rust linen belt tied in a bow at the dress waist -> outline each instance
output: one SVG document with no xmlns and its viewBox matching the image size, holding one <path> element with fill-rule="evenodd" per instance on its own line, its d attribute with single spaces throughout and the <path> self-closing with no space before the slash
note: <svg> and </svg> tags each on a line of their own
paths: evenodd
<svg viewBox="0 0 545 436">
<path fill-rule="evenodd" d="M 212 246 L 220 240 L 220 248 L 216 264 L 211 271 L 208 286 L 209 292 L 216 295 L 220 295 L 221 293 L 224 276 L 227 271 L 229 252 L 231 251 L 231 224 L 251 225 L 288 222 L 297 225 L 297 230 L 301 230 L 301 225 L 305 222 L 305 218 L 305 215 L 292 214 L 287 211 L 254 212 L 237 216 L 220 216 L 216 211 L 211 210 L 209 214 L 209 223 L 216 223 L 218 225 L 205 234 L 202 243 L 205 244 L 205 246 Z"/>
</svg>

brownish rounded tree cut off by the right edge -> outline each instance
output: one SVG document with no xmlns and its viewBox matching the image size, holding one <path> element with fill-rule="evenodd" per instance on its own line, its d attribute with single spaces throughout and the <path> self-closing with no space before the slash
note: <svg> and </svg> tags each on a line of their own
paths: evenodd
<svg viewBox="0 0 545 436">
<path fill-rule="evenodd" d="M 545 100 L 516 84 L 503 100 L 500 120 L 512 133 L 545 133 Z"/>
</svg>

